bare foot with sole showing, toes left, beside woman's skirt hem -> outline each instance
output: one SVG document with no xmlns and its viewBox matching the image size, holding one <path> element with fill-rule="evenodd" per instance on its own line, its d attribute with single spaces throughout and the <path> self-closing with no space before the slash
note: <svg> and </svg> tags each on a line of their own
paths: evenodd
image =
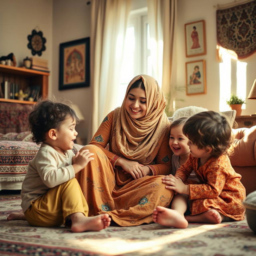
<svg viewBox="0 0 256 256">
<path fill-rule="evenodd" d="M 174 228 L 186 228 L 188 226 L 188 222 L 184 218 L 184 215 L 176 210 L 162 206 L 157 206 L 153 211 L 153 221 L 160 225 Z"/>
</svg>

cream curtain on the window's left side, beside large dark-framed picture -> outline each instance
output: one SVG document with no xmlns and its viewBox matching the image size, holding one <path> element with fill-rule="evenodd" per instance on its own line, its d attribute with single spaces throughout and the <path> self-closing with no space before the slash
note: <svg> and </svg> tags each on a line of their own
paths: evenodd
<svg viewBox="0 0 256 256">
<path fill-rule="evenodd" d="M 130 0 L 92 0 L 90 79 L 92 86 L 91 138 L 118 97 L 124 39 Z"/>
</svg>

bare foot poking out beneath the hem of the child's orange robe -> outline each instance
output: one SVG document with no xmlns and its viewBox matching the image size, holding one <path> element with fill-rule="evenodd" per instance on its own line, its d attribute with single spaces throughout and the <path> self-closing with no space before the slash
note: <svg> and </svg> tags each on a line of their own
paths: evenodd
<svg viewBox="0 0 256 256">
<path fill-rule="evenodd" d="M 220 214 L 215 209 L 211 209 L 196 215 L 185 216 L 188 222 L 202 222 L 202 223 L 212 223 L 212 224 L 221 223 L 223 220 L 223 217 L 224 216 L 222 216 L 222 214 Z"/>
</svg>

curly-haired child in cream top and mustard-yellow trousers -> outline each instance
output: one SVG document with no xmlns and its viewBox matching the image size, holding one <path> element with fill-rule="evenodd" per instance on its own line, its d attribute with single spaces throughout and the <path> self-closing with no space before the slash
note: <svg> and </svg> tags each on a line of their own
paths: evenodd
<svg viewBox="0 0 256 256">
<path fill-rule="evenodd" d="M 72 232 L 83 232 L 110 225 L 108 214 L 88 217 L 88 204 L 75 178 L 94 159 L 89 150 L 72 152 L 76 122 L 72 108 L 50 100 L 37 104 L 29 115 L 33 140 L 42 143 L 28 164 L 21 191 L 24 217 L 33 226 L 65 224 Z M 12 219 L 15 216 L 8 220 Z"/>
</svg>

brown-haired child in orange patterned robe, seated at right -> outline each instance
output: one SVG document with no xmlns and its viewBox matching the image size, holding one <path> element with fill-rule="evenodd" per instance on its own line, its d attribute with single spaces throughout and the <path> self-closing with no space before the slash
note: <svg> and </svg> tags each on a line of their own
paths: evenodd
<svg viewBox="0 0 256 256">
<path fill-rule="evenodd" d="M 157 206 L 154 222 L 186 228 L 188 222 L 217 224 L 244 219 L 245 188 L 227 156 L 232 144 L 232 130 L 226 118 L 213 111 L 191 116 L 183 126 L 189 138 L 190 156 L 176 175 L 162 178 L 166 188 L 176 193 L 171 209 Z M 195 171 L 200 184 L 184 183 Z M 188 196 L 187 196 L 188 195 Z M 190 200 L 190 215 L 184 213 Z"/>
</svg>

